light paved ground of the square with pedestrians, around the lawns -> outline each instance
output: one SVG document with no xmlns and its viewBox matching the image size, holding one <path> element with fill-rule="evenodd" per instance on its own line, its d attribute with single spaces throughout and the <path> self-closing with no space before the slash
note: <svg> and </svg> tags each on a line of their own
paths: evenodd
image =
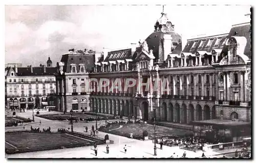
<svg viewBox="0 0 256 163">
<path fill-rule="evenodd" d="M 51 113 L 51 112 L 50 112 Z M 46 113 L 45 113 L 46 114 Z M 47 113 L 49 114 L 49 113 Z M 53 113 L 52 113 L 53 114 Z M 56 114 L 56 113 L 55 113 Z M 32 113 L 17 113 L 17 115 L 29 118 Z M 39 124 L 39 120 L 41 121 L 41 125 Z M 98 124 L 104 124 L 104 121 L 99 121 Z M 51 131 L 57 131 L 58 128 L 66 128 L 70 127 L 69 121 L 51 121 L 44 118 L 36 117 L 35 122 L 25 124 L 25 129 L 30 129 L 31 125 L 35 127 L 48 128 L 51 127 Z M 84 134 L 89 134 L 89 132 L 85 132 L 84 126 L 88 126 L 90 129 L 91 126 L 95 126 L 95 122 L 78 122 L 74 123 L 74 131 L 82 132 Z M 158 127 L 158 126 L 157 126 Z M 11 130 L 20 130 L 22 127 L 15 129 L 15 127 L 6 127 L 6 131 Z M 106 133 L 100 132 L 98 137 L 104 138 Z M 109 133 L 108 133 L 109 134 Z M 27 153 L 17 153 L 17 154 L 6 154 L 7 158 L 169 158 L 174 155 L 177 157 L 181 157 L 183 152 L 186 151 L 186 157 L 200 157 L 202 155 L 202 151 L 192 152 L 187 150 L 179 149 L 179 147 L 168 147 L 163 146 L 163 150 L 160 150 L 160 145 L 157 144 L 157 156 L 154 156 L 154 144 L 152 140 L 148 141 L 140 141 L 135 139 L 129 139 L 125 137 L 121 137 L 114 134 L 109 134 L 110 140 L 114 141 L 114 144 L 109 145 L 110 153 L 106 154 L 105 147 L 106 145 L 98 145 L 98 155 L 95 156 L 93 147 L 77 147 L 77 148 L 67 148 L 67 149 L 57 149 L 57 150 L 48 150 L 48 151 L 36 151 L 36 152 L 27 152 Z M 127 153 L 124 153 L 123 147 L 127 146 Z M 234 152 L 235 149 L 225 150 L 225 151 L 208 151 L 204 152 L 206 156 L 219 154 L 223 152 Z"/>
</svg>

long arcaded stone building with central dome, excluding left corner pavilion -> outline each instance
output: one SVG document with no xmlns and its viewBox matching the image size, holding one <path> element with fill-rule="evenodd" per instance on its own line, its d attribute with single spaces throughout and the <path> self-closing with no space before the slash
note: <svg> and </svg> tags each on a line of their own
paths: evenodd
<svg viewBox="0 0 256 163">
<path fill-rule="evenodd" d="M 154 27 L 152 34 L 131 48 L 104 49 L 89 77 L 98 83 L 108 78 L 110 85 L 91 83 L 91 111 L 186 124 L 251 120 L 250 22 L 233 25 L 226 34 L 189 39 L 185 46 L 166 14 Z M 134 78 L 137 85 L 126 91 L 111 89 L 117 78 L 122 87 L 127 78 Z M 161 83 L 153 90 L 155 79 L 165 79 L 167 85 Z M 139 80 L 150 82 L 150 90 L 140 87 Z"/>
</svg>

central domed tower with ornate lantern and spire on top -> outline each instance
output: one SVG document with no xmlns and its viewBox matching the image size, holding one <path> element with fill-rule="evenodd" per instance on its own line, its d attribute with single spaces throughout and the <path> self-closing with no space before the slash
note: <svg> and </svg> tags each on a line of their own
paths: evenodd
<svg viewBox="0 0 256 163">
<path fill-rule="evenodd" d="M 179 44 L 181 36 L 175 32 L 174 24 L 170 22 L 164 10 L 154 27 L 154 32 L 146 38 L 146 42 L 149 50 L 153 50 L 157 62 L 163 62 Z"/>
</svg>

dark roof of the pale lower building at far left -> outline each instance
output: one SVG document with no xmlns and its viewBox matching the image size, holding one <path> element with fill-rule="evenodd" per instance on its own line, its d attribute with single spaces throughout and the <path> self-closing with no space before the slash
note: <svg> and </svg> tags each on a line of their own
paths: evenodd
<svg viewBox="0 0 256 163">
<path fill-rule="evenodd" d="M 44 72 L 44 67 L 32 67 L 33 72 L 31 72 L 30 67 L 18 67 L 17 76 L 43 76 L 43 75 L 56 75 L 57 67 L 46 67 L 46 72 Z"/>
</svg>

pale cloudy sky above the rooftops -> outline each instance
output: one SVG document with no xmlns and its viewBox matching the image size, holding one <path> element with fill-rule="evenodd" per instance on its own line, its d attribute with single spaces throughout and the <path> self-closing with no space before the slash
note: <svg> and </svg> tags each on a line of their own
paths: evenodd
<svg viewBox="0 0 256 163">
<path fill-rule="evenodd" d="M 53 65 L 69 49 L 128 47 L 154 32 L 162 6 L 6 6 L 5 63 Z M 250 6 L 164 6 L 182 40 L 228 33 Z"/>
</svg>

